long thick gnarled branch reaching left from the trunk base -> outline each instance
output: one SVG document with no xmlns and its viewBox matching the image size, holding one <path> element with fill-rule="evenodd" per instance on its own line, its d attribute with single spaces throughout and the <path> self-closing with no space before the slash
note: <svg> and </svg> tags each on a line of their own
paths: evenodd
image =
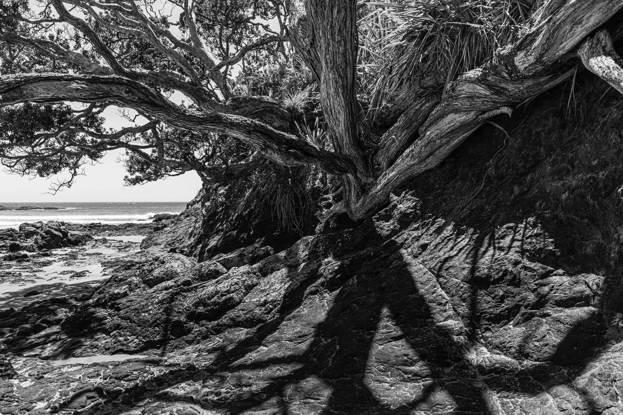
<svg viewBox="0 0 623 415">
<path fill-rule="evenodd" d="M 354 173 L 350 158 L 322 150 L 297 136 L 240 115 L 179 107 L 141 83 L 122 77 L 30 74 L 0 79 L 0 105 L 20 102 L 108 102 L 133 108 L 182 130 L 231 135 L 275 163 L 313 163 L 327 173 Z"/>
</svg>

